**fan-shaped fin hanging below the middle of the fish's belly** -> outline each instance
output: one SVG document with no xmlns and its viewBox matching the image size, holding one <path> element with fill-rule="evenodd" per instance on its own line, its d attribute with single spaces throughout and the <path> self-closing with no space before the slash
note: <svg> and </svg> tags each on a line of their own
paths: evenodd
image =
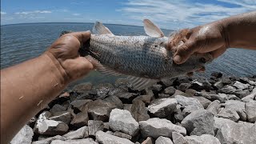
<svg viewBox="0 0 256 144">
<path fill-rule="evenodd" d="M 133 86 L 135 90 L 143 90 L 158 82 L 158 79 L 140 78 L 131 75 L 127 77 L 127 80 L 130 82 L 131 86 Z"/>
</svg>

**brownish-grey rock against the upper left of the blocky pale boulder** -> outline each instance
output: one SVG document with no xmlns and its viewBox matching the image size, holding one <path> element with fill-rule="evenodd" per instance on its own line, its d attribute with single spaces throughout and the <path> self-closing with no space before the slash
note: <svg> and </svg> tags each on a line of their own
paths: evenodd
<svg viewBox="0 0 256 144">
<path fill-rule="evenodd" d="M 94 120 L 107 122 L 110 117 L 110 111 L 117 106 L 113 102 L 106 102 L 101 99 L 90 102 L 88 105 L 88 114 Z"/>
</svg>

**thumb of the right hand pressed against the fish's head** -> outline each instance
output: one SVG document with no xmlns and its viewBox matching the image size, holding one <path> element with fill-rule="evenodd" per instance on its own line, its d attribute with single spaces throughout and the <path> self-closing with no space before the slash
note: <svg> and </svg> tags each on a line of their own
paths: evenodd
<svg viewBox="0 0 256 144">
<path fill-rule="evenodd" d="M 190 58 L 191 54 L 194 54 L 196 50 L 198 50 L 198 43 L 194 40 L 187 40 L 181 46 L 178 46 L 177 51 L 174 54 L 174 62 L 177 64 L 182 64 L 186 62 L 188 58 Z"/>
</svg>

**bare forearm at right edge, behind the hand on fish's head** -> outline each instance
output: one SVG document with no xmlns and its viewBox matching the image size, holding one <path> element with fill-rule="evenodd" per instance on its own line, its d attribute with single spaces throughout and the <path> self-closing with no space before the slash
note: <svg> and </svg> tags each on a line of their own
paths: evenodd
<svg viewBox="0 0 256 144">
<path fill-rule="evenodd" d="M 256 11 L 221 20 L 226 45 L 256 50 Z"/>
</svg>

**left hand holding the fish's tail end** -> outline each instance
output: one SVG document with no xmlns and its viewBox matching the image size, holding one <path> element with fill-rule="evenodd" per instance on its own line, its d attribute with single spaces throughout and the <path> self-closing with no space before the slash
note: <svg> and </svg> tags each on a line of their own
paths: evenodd
<svg viewBox="0 0 256 144">
<path fill-rule="evenodd" d="M 80 46 L 89 39 L 90 31 L 64 34 L 46 50 L 45 54 L 59 62 L 68 82 L 82 78 L 94 69 L 91 62 L 78 54 Z"/>
</svg>

